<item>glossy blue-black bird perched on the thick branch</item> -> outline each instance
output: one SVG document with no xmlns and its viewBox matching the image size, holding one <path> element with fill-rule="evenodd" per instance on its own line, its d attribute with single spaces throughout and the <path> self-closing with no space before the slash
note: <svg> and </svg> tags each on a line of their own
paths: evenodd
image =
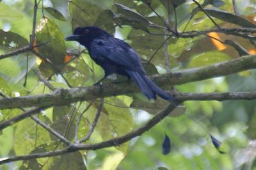
<svg viewBox="0 0 256 170">
<path fill-rule="evenodd" d="M 77 27 L 73 35 L 68 36 L 66 40 L 77 41 L 86 47 L 93 61 L 105 71 L 100 81 L 112 73 L 118 73 L 132 78 L 149 100 L 156 100 L 156 95 L 168 101 L 173 100 L 169 93 L 163 91 L 147 77 L 138 54 L 123 40 L 94 26 Z"/>
</svg>

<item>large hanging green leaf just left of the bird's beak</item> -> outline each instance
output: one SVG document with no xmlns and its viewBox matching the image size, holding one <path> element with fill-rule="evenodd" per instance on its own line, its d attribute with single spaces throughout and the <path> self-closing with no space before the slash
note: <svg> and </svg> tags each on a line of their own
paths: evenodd
<svg viewBox="0 0 256 170">
<path fill-rule="evenodd" d="M 66 56 L 64 35 L 51 19 L 43 17 L 36 29 L 36 44 L 45 43 L 38 47 L 42 53 L 56 66 L 63 66 Z"/>
</svg>

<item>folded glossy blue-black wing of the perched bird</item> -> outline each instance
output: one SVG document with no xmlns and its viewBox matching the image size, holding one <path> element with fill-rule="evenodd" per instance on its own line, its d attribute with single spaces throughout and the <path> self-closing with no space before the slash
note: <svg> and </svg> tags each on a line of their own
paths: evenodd
<svg viewBox="0 0 256 170">
<path fill-rule="evenodd" d="M 105 40 L 96 39 L 90 47 L 90 54 L 93 58 L 102 58 L 129 70 L 144 72 L 138 54 L 123 40 L 112 37 Z"/>
</svg>

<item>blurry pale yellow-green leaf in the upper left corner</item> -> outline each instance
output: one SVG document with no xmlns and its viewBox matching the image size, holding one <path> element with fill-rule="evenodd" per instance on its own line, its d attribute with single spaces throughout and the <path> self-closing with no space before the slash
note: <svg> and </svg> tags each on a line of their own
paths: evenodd
<svg viewBox="0 0 256 170">
<path fill-rule="evenodd" d="M 22 19 L 22 13 L 4 3 L 0 4 L 0 20 L 14 21 L 20 19 Z"/>
</svg>

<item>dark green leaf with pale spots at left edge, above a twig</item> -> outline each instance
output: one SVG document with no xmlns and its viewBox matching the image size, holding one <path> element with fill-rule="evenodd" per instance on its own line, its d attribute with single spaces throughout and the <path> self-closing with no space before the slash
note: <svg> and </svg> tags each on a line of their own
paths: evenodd
<svg viewBox="0 0 256 170">
<path fill-rule="evenodd" d="M 20 48 L 29 45 L 26 38 L 13 33 L 11 31 L 5 32 L 0 29 L 0 46 L 12 48 Z"/>
</svg>

